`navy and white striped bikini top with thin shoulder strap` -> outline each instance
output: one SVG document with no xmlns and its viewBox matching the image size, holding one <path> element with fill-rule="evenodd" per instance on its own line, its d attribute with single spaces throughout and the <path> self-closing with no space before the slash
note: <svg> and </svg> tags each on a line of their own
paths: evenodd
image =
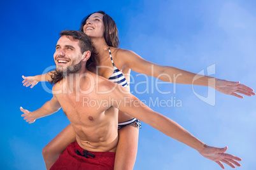
<svg viewBox="0 0 256 170">
<path fill-rule="evenodd" d="M 108 51 L 110 51 L 110 47 L 108 47 Z M 111 56 L 111 51 L 110 51 L 110 59 L 113 64 L 114 72 L 110 76 L 109 80 L 112 82 L 116 82 L 125 88 L 126 86 L 128 86 L 127 81 L 124 77 L 124 74 L 122 74 L 122 72 L 120 72 L 120 70 L 118 70 L 117 67 L 115 67 L 115 64 L 114 64 L 112 56 Z"/>
</svg>

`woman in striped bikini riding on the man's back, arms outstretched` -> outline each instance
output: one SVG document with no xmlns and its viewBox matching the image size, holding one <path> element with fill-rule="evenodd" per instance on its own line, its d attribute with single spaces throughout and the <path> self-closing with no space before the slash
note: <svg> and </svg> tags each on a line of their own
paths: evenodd
<svg viewBox="0 0 256 170">
<path fill-rule="evenodd" d="M 239 98 L 243 98 L 243 96 L 237 93 L 248 96 L 255 95 L 253 89 L 239 84 L 239 82 L 224 81 L 208 76 L 202 76 L 200 79 L 193 82 L 196 74 L 174 67 L 156 65 L 155 63 L 144 60 L 132 51 L 118 48 L 117 26 L 113 19 L 103 11 L 97 11 L 85 17 L 80 30 L 90 37 L 96 49 L 95 65 L 97 65 L 97 67 L 92 66 L 89 70 L 110 79 L 110 81 L 121 84 L 127 91 L 129 91 L 127 82 L 130 80 L 129 74 L 131 70 L 141 74 L 152 75 L 153 66 L 153 77 L 159 77 L 162 81 L 173 82 L 175 75 L 181 74 L 175 77 L 174 82 L 211 86 L 222 93 L 234 95 Z M 31 85 L 32 88 L 38 81 L 50 81 L 51 74 L 52 73 L 48 73 L 46 76 L 36 75 L 34 77 L 23 77 L 24 86 L 28 87 Z M 168 74 L 169 77 L 161 77 L 161 74 Z M 126 121 L 130 121 L 133 124 L 131 124 L 132 126 L 125 126 L 118 130 L 119 141 L 115 158 L 115 169 L 132 169 L 136 159 L 138 128 L 134 128 L 136 127 L 134 124 L 138 125 L 139 123 L 129 115 L 119 112 L 118 122 Z M 63 129 L 45 148 L 43 148 L 43 157 L 47 169 L 52 166 L 69 143 L 73 141 L 75 141 L 75 132 L 69 124 L 69 126 Z"/>
</svg>

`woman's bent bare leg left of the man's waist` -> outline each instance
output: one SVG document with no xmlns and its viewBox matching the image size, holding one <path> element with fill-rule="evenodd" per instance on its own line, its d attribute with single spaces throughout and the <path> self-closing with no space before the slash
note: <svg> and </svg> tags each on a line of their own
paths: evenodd
<svg viewBox="0 0 256 170">
<path fill-rule="evenodd" d="M 42 154 L 46 169 L 50 169 L 54 162 L 59 159 L 59 155 L 64 152 L 66 147 L 68 147 L 71 142 L 75 141 L 75 131 L 71 124 L 69 124 L 43 148 Z"/>
</svg>

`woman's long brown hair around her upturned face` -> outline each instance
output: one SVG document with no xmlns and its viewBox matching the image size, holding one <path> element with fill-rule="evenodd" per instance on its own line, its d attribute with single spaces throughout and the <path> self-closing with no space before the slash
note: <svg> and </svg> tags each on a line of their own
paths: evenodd
<svg viewBox="0 0 256 170">
<path fill-rule="evenodd" d="M 106 14 L 104 11 L 97 11 L 94 13 L 103 14 L 104 39 L 106 41 L 106 44 L 108 44 L 108 46 L 118 48 L 119 39 L 118 39 L 117 25 L 115 24 L 115 21 L 110 17 L 110 15 Z M 94 13 L 91 13 L 90 15 Z M 81 31 L 83 31 L 83 26 L 86 24 L 87 19 L 90 17 L 90 15 L 87 15 L 85 16 L 85 18 L 83 18 L 80 26 Z"/>
</svg>

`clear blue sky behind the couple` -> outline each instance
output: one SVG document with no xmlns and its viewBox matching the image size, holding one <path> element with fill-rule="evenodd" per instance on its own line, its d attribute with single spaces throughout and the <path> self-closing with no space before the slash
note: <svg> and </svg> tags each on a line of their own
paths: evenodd
<svg viewBox="0 0 256 170">
<path fill-rule="evenodd" d="M 42 148 L 69 121 L 62 111 L 27 124 L 19 107 L 30 111 L 50 100 L 41 83 L 22 86 L 22 75 L 42 74 L 54 65 L 53 53 L 59 32 L 78 30 L 82 18 L 106 11 L 117 23 L 120 48 L 131 49 L 150 62 L 199 73 L 214 65 L 212 76 L 256 89 L 255 1 L 4 1 L 1 3 L 1 169 L 45 169 Z M 135 82 L 155 83 L 151 77 L 132 72 Z M 155 89 L 155 84 L 149 88 Z M 243 100 L 218 91 L 209 105 L 208 88 L 161 84 L 142 93 L 145 84 L 131 83 L 131 90 L 150 105 L 156 100 L 181 101 L 181 107 L 150 107 L 173 119 L 190 133 L 215 147 L 229 147 L 243 159 L 238 169 L 256 166 L 255 96 Z M 51 88 L 50 84 L 46 84 Z M 225 166 L 226 169 L 231 169 Z M 134 169 L 220 169 L 195 150 L 174 141 L 143 123 Z"/>
</svg>

